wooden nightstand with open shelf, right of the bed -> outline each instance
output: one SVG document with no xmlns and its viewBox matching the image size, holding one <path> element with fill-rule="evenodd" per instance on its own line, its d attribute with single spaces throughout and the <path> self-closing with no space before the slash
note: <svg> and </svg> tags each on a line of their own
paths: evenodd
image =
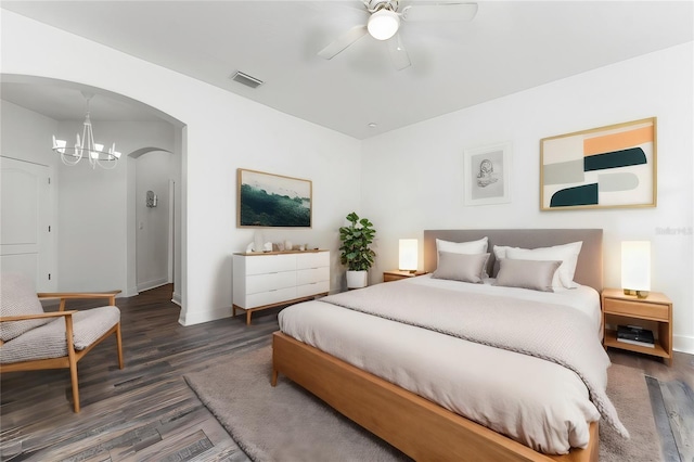
<svg viewBox="0 0 694 462">
<path fill-rule="evenodd" d="M 601 295 L 605 348 L 620 348 L 663 358 L 672 363 L 672 300 L 651 292 L 646 298 L 625 295 L 620 288 L 605 288 Z M 617 325 L 639 325 L 653 331 L 655 347 L 617 342 Z"/>
</svg>

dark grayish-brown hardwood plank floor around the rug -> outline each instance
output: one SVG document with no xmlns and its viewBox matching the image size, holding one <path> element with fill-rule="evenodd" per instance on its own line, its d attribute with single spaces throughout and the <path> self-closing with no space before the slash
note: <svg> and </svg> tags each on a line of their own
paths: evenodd
<svg viewBox="0 0 694 462">
<path fill-rule="evenodd" d="M 67 370 L 2 374 L 1 461 L 248 461 L 183 374 L 269 345 L 279 309 L 255 313 L 250 326 L 239 316 L 183 328 L 171 288 L 118 298 L 126 367 L 117 367 L 114 338 L 79 362 L 79 414 L 72 411 Z M 678 408 L 693 399 L 694 356 L 676 354 L 671 368 L 639 355 L 611 350 L 609 356 L 654 377 L 650 386 L 669 402 L 666 421 L 676 422 L 669 442 L 674 449 L 665 459 L 692 461 L 692 435 L 682 434 L 692 416 Z"/>
</svg>

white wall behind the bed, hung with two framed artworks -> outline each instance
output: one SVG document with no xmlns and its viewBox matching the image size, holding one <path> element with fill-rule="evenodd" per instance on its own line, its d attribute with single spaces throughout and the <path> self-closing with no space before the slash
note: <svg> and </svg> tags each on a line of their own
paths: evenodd
<svg viewBox="0 0 694 462">
<path fill-rule="evenodd" d="M 371 279 L 397 268 L 398 239 L 424 229 L 603 228 L 605 285 L 619 287 L 620 241 L 652 241 L 653 290 L 673 300 L 676 348 L 694 352 L 692 56 L 690 42 L 364 141 L 362 211 L 378 231 Z M 656 208 L 540 211 L 540 139 L 653 116 Z M 464 206 L 463 150 L 504 141 L 512 202 Z"/>
</svg>

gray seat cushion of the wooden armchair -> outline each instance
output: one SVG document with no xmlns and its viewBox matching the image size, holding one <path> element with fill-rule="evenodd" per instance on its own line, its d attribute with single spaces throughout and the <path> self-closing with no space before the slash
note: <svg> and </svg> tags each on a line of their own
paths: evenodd
<svg viewBox="0 0 694 462">
<path fill-rule="evenodd" d="M 108 306 L 73 315 L 75 349 L 81 350 L 98 341 L 120 321 L 120 310 Z M 65 319 L 59 318 L 33 329 L 0 347 L 0 362 L 21 362 L 67 356 Z"/>
</svg>

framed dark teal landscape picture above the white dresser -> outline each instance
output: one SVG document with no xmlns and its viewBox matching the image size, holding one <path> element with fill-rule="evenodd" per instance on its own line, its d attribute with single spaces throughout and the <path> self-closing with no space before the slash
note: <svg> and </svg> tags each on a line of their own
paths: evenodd
<svg viewBox="0 0 694 462">
<path fill-rule="evenodd" d="M 310 180 L 239 168 L 237 228 L 311 228 Z"/>
</svg>

